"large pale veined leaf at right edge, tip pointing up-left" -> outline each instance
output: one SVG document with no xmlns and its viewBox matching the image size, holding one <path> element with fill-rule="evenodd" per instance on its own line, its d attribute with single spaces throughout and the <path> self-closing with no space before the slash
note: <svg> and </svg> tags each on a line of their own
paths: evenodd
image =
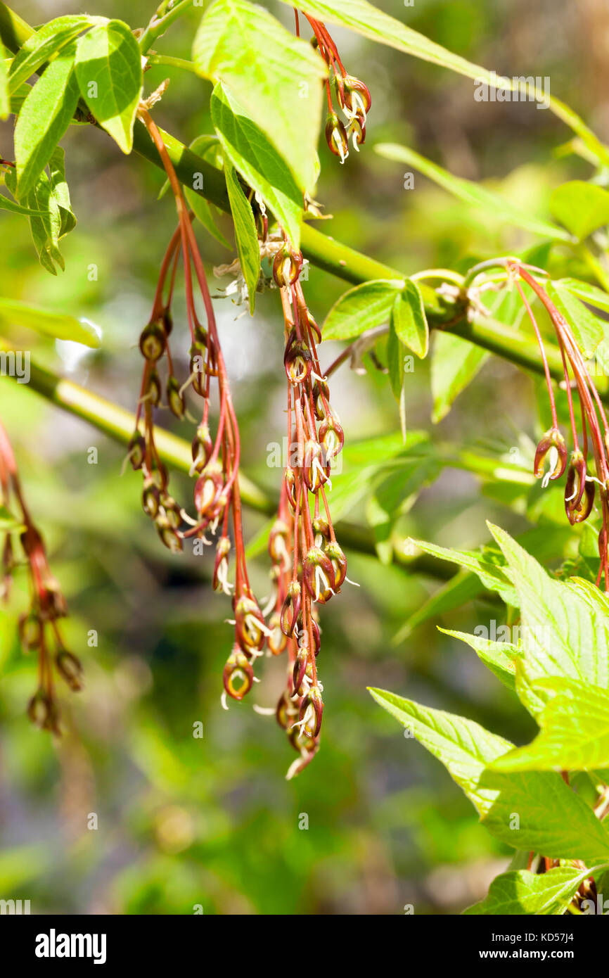
<svg viewBox="0 0 609 978">
<path fill-rule="evenodd" d="M 575 589 L 552 580 L 504 530 L 489 526 L 518 596 L 528 681 L 563 676 L 607 689 L 609 616 Z"/>
</svg>

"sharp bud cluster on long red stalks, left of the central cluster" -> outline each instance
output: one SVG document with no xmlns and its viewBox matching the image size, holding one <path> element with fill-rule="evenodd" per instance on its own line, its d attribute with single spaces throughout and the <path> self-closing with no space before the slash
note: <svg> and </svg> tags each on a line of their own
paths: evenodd
<svg viewBox="0 0 609 978">
<path fill-rule="evenodd" d="M 165 167 L 175 197 L 179 223 L 161 264 L 150 322 L 140 337 L 140 350 L 145 362 L 136 430 L 129 446 L 129 461 L 133 468 L 140 469 L 144 475 L 144 511 L 152 518 L 160 539 L 169 550 L 181 551 L 184 541 L 191 538 L 210 544 L 207 534 L 219 534 L 213 587 L 232 596 L 235 614 L 235 642 L 223 676 L 223 702 L 226 705 L 226 695 L 239 700 L 251 689 L 253 663 L 262 654 L 267 635 L 264 617 L 251 592 L 245 565 L 239 496 L 239 425 L 192 226 L 193 214 L 188 210 L 173 165 L 149 112 L 141 111 L 141 118 Z M 169 348 L 171 302 L 180 254 L 184 266 L 191 339 L 189 377 L 182 385 L 175 377 Z M 196 314 L 195 284 L 205 310 L 204 324 Z M 189 389 L 196 395 L 199 404 L 202 401 L 192 446 L 191 474 L 196 478 L 195 517 L 178 506 L 171 496 L 167 470 L 154 444 L 154 410 L 162 400 L 158 368 L 163 359 L 167 364 L 165 392 L 169 410 L 180 420 L 187 417 L 185 395 Z M 212 435 L 210 406 L 214 390 L 217 394 L 218 419 Z M 234 583 L 229 581 L 231 530 L 235 544 Z"/>
</svg>

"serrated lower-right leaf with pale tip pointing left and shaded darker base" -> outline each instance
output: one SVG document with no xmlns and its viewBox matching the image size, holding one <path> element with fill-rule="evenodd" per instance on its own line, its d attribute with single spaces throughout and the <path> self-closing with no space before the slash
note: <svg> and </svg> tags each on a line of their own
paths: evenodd
<svg viewBox="0 0 609 978">
<path fill-rule="evenodd" d="M 609 832 L 560 775 L 489 771 L 488 766 L 511 747 L 509 741 L 472 720 L 384 689 L 370 693 L 445 765 L 482 823 L 502 842 L 588 865 L 609 858 Z"/>
</svg>

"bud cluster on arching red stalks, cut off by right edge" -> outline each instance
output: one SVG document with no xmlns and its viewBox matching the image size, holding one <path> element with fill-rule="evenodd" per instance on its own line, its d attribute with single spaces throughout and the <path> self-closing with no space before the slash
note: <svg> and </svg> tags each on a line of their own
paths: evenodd
<svg viewBox="0 0 609 978">
<path fill-rule="evenodd" d="M 603 581 L 605 591 L 609 591 L 609 556 L 607 551 L 609 533 L 609 428 L 605 409 L 592 378 L 590 378 L 586 359 L 571 327 L 551 301 L 543 285 L 531 274 L 531 271 L 535 270 L 528 270 L 516 258 L 503 259 L 498 264 L 505 265 L 508 280 L 516 283 L 520 298 L 533 324 L 544 363 L 552 425 L 544 433 L 537 447 L 534 465 L 535 475 L 544 479 L 544 485 L 547 485 L 550 480 L 559 479 L 566 470 L 564 502 L 567 518 L 571 524 L 581 523 L 587 519 L 594 507 L 594 499 L 596 492 L 598 492 L 601 529 L 598 534 L 600 566 L 596 584 L 600 585 Z M 560 349 L 573 438 L 570 456 L 565 438 L 558 428 L 556 404 L 544 350 L 544 340 L 531 305 L 522 289 L 521 280 L 533 289 L 543 303 Z M 581 442 L 575 417 L 574 391 L 577 391 L 580 401 Z M 594 474 L 588 472 L 588 457 L 590 455 L 594 465 Z"/>
</svg>

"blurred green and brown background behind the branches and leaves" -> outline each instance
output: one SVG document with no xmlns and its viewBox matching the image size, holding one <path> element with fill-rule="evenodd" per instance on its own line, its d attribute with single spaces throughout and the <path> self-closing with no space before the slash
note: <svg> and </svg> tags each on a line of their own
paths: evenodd
<svg viewBox="0 0 609 978">
<path fill-rule="evenodd" d="M 563 98 L 608 135 L 609 13 L 601 0 L 401 0 L 377 4 L 458 54 L 509 75 L 548 75 Z M 284 22 L 290 12 L 270 5 Z M 281 9 L 278 9 L 281 8 Z M 99 0 L 89 13 L 128 16 L 143 26 L 153 3 Z M 19 13 L 39 24 L 81 12 L 78 3 L 23 2 Z M 189 58 L 200 10 L 174 25 L 156 50 Z M 490 181 L 514 202 L 547 216 L 551 190 L 587 178 L 587 163 L 557 152 L 568 131 L 527 104 L 477 103 L 473 83 L 398 52 L 332 29 L 342 60 L 366 80 L 372 96 L 367 144 L 344 167 L 320 148 L 317 199 L 336 239 L 402 268 L 457 267 L 472 255 L 509 253 L 536 242 L 473 214 L 404 167 L 372 152 L 378 141 L 413 146 L 460 176 Z M 210 86 L 186 72 L 153 67 L 147 92 L 171 83 L 154 110 L 160 125 L 188 143 L 210 132 Z M 11 126 L 1 155 L 11 158 Z M 86 316 L 104 332 L 100 351 L 75 355 L 30 333 L 11 333 L 21 348 L 54 370 L 123 407 L 139 388 L 140 330 L 148 321 L 173 204 L 156 200 L 162 174 L 124 157 L 102 133 L 73 126 L 63 141 L 78 226 L 64 241 L 65 273 L 36 262 L 26 222 L 2 217 L 1 293 Z M 226 229 L 230 229 L 227 222 Z M 212 266 L 232 254 L 198 230 Z M 558 250 L 556 259 L 560 261 Z M 91 265 L 98 267 L 90 281 Z M 214 291 L 229 280 L 216 280 Z M 320 321 L 345 288 L 315 268 L 305 287 Z M 186 376 L 188 340 L 178 302 L 175 332 Z M 259 296 L 254 319 L 230 298 L 216 310 L 244 446 L 243 467 L 270 493 L 281 471 L 267 466 L 267 446 L 284 428 L 281 306 L 277 292 Z M 32 345 L 33 344 L 33 345 Z M 177 349 L 177 343 L 174 341 Z M 340 347 L 322 346 L 328 364 Z M 398 430 L 395 401 L 382 375 L 342 368 L 332 404 L 346 443 Z M 409 428 L 530 462 L 540 422 L 537 383 L 493 358 L 438 425 L 432 425 L 429 370 L 416 363 L 407 385 Z M 320 671 L 326 711 L 322 749 L 302 776 L 286 782 L 295 755 L 275 720 L 252 701 L 275 705 L 284 662 L 265 660 L 263 682 L 249 700 L 220 705 L 221 672 L 231 645 L 228 600 L 211 592 L 213 555 L 170 556 L 140 508 L 140 477 L 121 475 L 123 452 L 25 385 L 0 382 L 0 413 L 13 438 L 30 508 L 69 604 L 66 642 L 79 655 L 86 689 L 63 695 L 66 733 L 54 743 L 31 728 L 24 708 L 35 664 L 23 656 L 16 622 L 24 606 L 18 579 L 1 611 L 0 631 L 0 897 L 31 900 L 52 913 L 416 913 L 457 912 L 480 899 L 504 867 L 507 850 L 485 832 L 444 769 L 371 700 L 367 686 L 392 689 L 429 705 L 464 713 L 518 742 L 532 722 L 467 648 L 436 625 L 472 631 L 502 621 L 500 604 L 483 599 L 392 640 L 450 572 L 410 572 L 349 553 L 349 576 L 322 610 Z M 171 424 L 169 420 L 163 422 Z M 174 429 L 190 440 L 191 424 Z M 99 462 L 87 452 L 97 447 Z M 510 454 L 511 453 L 511 454 Z M 172 476 L 187 504 L 192 485 Z M 340 476 L 336 478 L 340 485 Z M 404 489 L 407 495 L 407 489 Z M 177 495 L 177 492 L 176 492 Z M 414 494 L 416 495 L 416 494 Z M 444 468 L 409 499 L 395 532 L 445 546 L 487 541 L 485 518 L 520 532 L 550 525 L 551 507 L 522 492 L 489 486 Z M 512 500 L 513 497 L 513 500 Z M 331 502 L 331 497 L 330 497 Z M 507 503 L 512 503 L 507 506 Z M 366 523 L 365 499 L 349 519 Z M 547 511 L 545 511 L 547 510 Z M 246 513 L 253 537 L 262 517 Z M 268 562 L 252 562 L 254 590 L 267 594 Z M 97 647 L 87 645 L 90 630 Z M 193 736 L 203 724 L 204 736 Z M 97 813 L 99 827 L 87 827 Z M 302 815 L 308 816 L 308 828 Z"/>
</svg>

